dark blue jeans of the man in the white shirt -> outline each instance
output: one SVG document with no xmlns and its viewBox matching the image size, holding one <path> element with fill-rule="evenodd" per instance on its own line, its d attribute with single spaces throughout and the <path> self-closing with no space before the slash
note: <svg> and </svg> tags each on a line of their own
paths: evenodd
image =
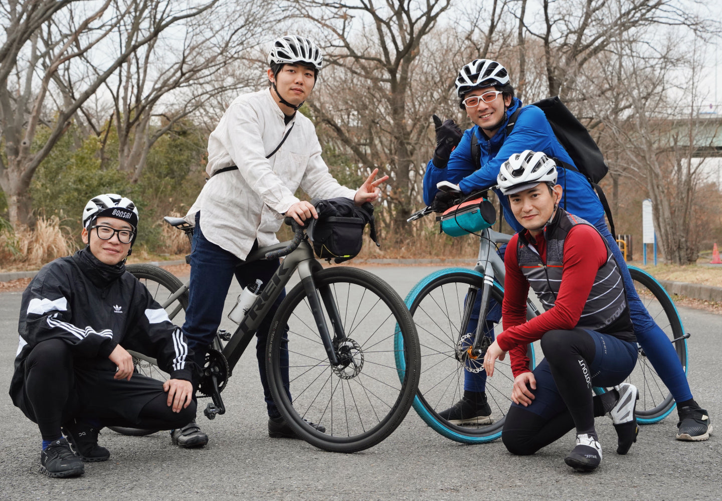
<svg viewBox="0 0 722 501">
<path fill-rule="evenodd" d="M 258 242 L 253 244 L 253 250 L 258 248 Z M 196 363 L 203 367 L 206 351 L 218 331 L 223 315 L 223 305 L 228 295 L 230 282 L 235 275 L 241 287 L 253 284 L 256 279 L 261 282 L 269 281 L 278 269 L 279 260 L 253 261 L 246 264 L 234 254 L 225 251 L 218 245 L 209 242 L 203 235 L 200 225 L 200 212 L 196 213 L 196 228 L 193 230 L 193 250 L 191 251 L 191 289 L 188 291 L 188 308 L 186 309 L 186 323 L 183 323 L 183 333 L 188 338 L 188 346 L 196 354 Z M 274 404 L 271 390 L 266 378 L 266 339 L 268 339 L 271 319 L 278 309 L 285 291 L 281 293 L 271 307 L 266 318 L 261 322 L 256 332 L 256 359 L 258 359 L 258 373 L 261 375 L 261 385 L 264 387 L 266 408 L 270 417 L 280 417 L 276 404 Z M 286 361 L 281 361 L 284 387 L 290 398 L 288 382 L 288 350 L 282 349 Z M 284 373 L 284 374 L 283 374 Z"/>
</svg>

